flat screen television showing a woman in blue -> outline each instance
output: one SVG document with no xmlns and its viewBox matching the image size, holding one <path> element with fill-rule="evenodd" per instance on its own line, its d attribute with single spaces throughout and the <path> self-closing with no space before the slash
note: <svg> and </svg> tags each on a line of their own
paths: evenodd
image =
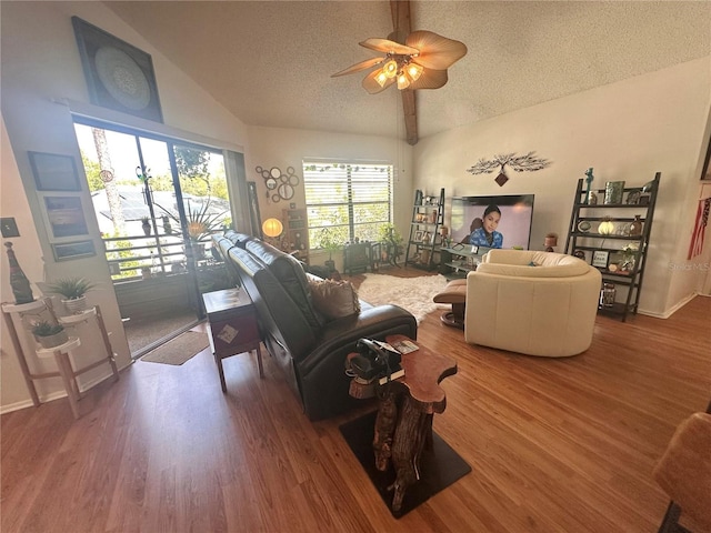
<svg viewBox="0 0 711 533">
<path fill-rule="evenodd" d="M 500 217 L 493 210 L 493 219 L 498 220 L 495 231 L 501 235 L 489 243 L 481 241 L 482 232 L 478 230 L 475 240 L 479 245 L 488 248 L 522 248 L 529 249 L 531 240 L 531 223 L 533 220 L 533 194 L 507 194 L 492 197 L 454 197 L 452 198 L 450 230 L 452 242 L 469 243 L 474 228 L 484 219 L 484 212 L 490 205 L 498 208 Z M 477 221 L 478 219 L 478 221 Z M 501 245 L 497 245 L 498 243 Z"/>
</svg>

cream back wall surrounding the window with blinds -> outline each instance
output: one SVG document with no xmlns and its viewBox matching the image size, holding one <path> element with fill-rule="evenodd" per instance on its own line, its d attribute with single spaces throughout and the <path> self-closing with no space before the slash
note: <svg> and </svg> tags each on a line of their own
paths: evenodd
<svg viewBox="0 0 711 533">
<path fill-rule="evenodd" d="M 297 188 L 294 198 L 289 201 L 267 202 L 264 180 L 254 170 L 257 167 L 279 167 L 286 170 L 293 167 L 303 180 L 302 161 L 304 159 L 363 160 L 387 162 L 395 167 L 394 198 L 395 225 L 403 235 L 409 234 L 412 215 L 412 147 L 404 141 L 380 137 L 327 133 L 322 131 L 289 130 L 279 128 L 249 128 L 250 151 L 246 157 L 247 179 L 257 182 L 262 221 L 270 217 L 282 219 L 282 209 L 294 202 L 297 208 L 306 207 L 303 184 Z M 312 253 L 310 262 L 322 264 L 328 253 Z M 342 268 L 342 258 L 334 254 L 337 269 Z"/>
</svg>

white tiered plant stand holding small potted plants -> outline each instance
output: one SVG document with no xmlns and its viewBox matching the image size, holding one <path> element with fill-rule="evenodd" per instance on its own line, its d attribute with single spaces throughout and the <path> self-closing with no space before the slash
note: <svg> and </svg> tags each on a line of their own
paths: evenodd
<svg viewBox="0 0 711 533">
<path fill-rule="evenodd" d="M 89 322 L 89 319 L 96 316 L 96 324 L 101 333 L 101 338 L 103 340 L 103 349 L 104 354 L 98 361 L 94 361 L 90 364 L 87 364 L 80 369 L 74 370 L 71 364 L 71 360 L 69 354 L 72 350 L 79 348 L 81 345 L 81 340 L 79 335 L 71 336 L 68 342 L 60 344 L 54 348 L 38 348 L 36 353 L 38 358 L 49 358 L 54 356 L 57 362 L 58 372 L 43 372 L 39 374 L 34 374 L 30 372 L 30 369 L 27 364 L 27 358 L 24 355 L 24 351 L 22 350 L 22 344 L 18 338 L 18 332 L 14 328 L 14 321 L 12 320 L 11 313 L 18 313 L 19 315 L 26 313 L 34 313 L 41 312 L 42 310 L 47 310 L 50 314 L 53 315 L 51 303 L 48 299 L 40 299 L 36 302 L 24 303 L 24 304 L 10 304 L 3 303 L 2 311 L 6 320 L 6 324 L 8 325 L 8 331 L 10 332 L 10 339 L 12 341 L 12 345 L 18 354 L 20 368 L 22 369 L 22 375 L 24 376 L 24 382 L 27 383 L 28 390 L 30 391 L 30 396 L 32 398 L 32 403 L 34 406 L 40 405 L 40 400 L 37 394 L 37 389 L 34 388 L 34 380 L 41 380 L 44 378 L 61 378 L 64 384 L 64 390 L 67 391 L 67 396 L 69 398 L 69 404 L 71 406 L 72 414 L 74 419 L 80 418 L 79 413 L 79 400 L 82 398 L 82 393 L 79 392 L 79 385 L 77 384 L 77 376 L 83 374 L 84 372 L 89 372 L 90 370 L 99 366 L 100 364 L 109 363 L 111 365 L 111 372 L 113 374 L 113 381 L 119 379 L 119 371 L 116 365 L 113 350 L 111 348 L 111 343 L 109 341 L 109 333 L 107 333 L 106 324 L 103 322 L 103 316 L 101 314 L 101 308 L 99 305 L 94 305 L 91 309 L 83 311 L 80 314 L 71 314 L 68 316 L 60 316 L 57 320 L 64 326 L 76 326 L 83 322 Z"/>
</svg>

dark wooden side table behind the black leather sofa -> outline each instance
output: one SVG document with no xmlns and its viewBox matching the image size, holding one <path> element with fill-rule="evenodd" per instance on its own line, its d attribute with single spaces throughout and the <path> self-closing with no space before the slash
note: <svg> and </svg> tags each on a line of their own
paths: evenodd
<svg viewBox="0 0 711 533">
<path fill-rule="evenodd" d="M 227 289 L 206 292 L 202 301 L 208 314 L 210 348 L 220 374 L 222 392 L 227 392 L 222 360 L 238 353 L 257 352 L 259 376 L 264 378 L 262 368 L 261 335 L 257 324 L 257 310 L 244 289 Z"/>
</svg>

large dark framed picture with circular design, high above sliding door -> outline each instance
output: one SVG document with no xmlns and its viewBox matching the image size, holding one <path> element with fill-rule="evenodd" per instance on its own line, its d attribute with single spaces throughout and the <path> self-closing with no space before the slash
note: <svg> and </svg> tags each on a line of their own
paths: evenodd
<svg viewBox="0 0 711 533">
<path fill-rule="evenodd" d="M 71 23 L 91 103 L 162 122 L 151 56 L 79 17 Z"/>
</svg>

